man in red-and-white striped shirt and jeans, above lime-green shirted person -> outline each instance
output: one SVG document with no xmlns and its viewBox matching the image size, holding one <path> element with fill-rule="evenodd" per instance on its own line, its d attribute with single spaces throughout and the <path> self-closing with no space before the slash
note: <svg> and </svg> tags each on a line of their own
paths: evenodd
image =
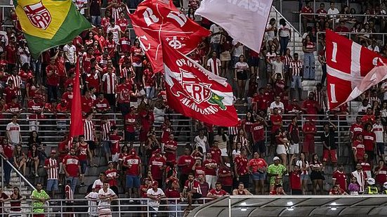
<svg viewBox="0 0 387 217">
<path fill-rule="evenodd" d="M 51 150 L 50 157 L 44 161 L 44 169 L 47 173 L 47 192 L 51 192 L 51 198 L 55 198 L 55 191 L 58 190 L 59 164 L 56 160 L 56 150 Z"/>
</svg>

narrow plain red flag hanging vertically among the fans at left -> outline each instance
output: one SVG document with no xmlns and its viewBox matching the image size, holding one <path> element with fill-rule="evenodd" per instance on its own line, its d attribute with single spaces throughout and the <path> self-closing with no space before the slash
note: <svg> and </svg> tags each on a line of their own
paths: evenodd
<svg viewBox="0 0 387 217">
<path fill-rule="evenodd" d="M 79 59 L 75 68 L 73 98 L 71 104 L 71 122 L 69 137 L 79 136 L 84 134 L 84 124 L 82 122 L 81 111 L 81 91 L 79 89 Z"/>
</svg>

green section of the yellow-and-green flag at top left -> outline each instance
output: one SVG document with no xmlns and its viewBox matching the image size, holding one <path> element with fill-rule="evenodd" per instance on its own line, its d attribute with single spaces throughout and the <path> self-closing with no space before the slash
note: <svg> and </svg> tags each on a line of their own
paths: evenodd
<svg viewBox="0 0 387 217">
<path fill-rule="evenodd" d="M 42 39 L 34 37 L 24 32 L 25 39 L 31 52 L 32 57 L 37 59 L 41 53 L 47 51 L 55 46 L 67 44 L 72 39 L 81 34 L 85 29 L 90 29 L 91 23 L 86 20 L 84 15 L 81 15 L 75 8 L 74 4 L 71 4 L 69 13 L 63 24 L 60 26 L 55 36 L 52 39 Z"/>
</svg>

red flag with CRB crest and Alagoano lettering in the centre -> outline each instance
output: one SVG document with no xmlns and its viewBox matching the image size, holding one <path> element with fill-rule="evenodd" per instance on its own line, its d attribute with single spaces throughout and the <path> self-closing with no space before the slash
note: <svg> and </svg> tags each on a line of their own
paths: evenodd
<svg viewBox="0 0 387 217">
<path fill-rule="evenodd" d="M 217 126 L 235 126 L 232 88 L 227 81 L 205 70 L 170 46 L 163 46 L 166 98 L 181 114 Z"/>
</svg>

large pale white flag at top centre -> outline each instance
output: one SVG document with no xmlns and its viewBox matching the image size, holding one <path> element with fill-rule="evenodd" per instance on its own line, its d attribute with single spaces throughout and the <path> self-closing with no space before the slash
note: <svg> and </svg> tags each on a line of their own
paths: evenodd
<svg viewBox="0 0 387 217">
<path fill-rule="evenodd" d="M 203 0 L 195 13 L 259 53 L 272 3 L 273 0 Z"/>
</svg>

